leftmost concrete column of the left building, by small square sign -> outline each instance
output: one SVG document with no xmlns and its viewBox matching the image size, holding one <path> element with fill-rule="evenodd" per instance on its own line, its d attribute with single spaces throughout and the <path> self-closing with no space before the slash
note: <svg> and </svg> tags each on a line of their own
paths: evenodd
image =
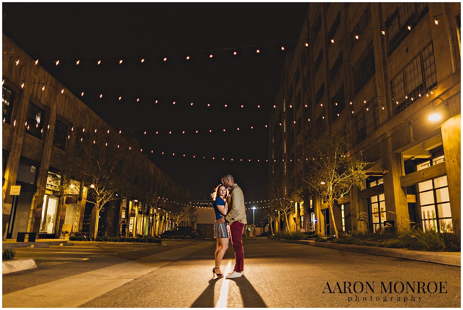
<svg viewBox="0 0 463 310">
<path fill-rule="evenodd" d="M 6 83 L 7 85 L 7 83 Z M 16 126 L 14 126 L 13 132 L 13 141 L 11 145 L 10 154 L 6 161 L 5 167 L 5 184 L 2 187 L 2 233 L 3 240 L 6 240 L 6 231 L 8 230 L 8 224 L 10 221 L 11 208 L 13 205 L 13 196 L 10 195 L 10 189 L 12 185 L 16 185 L 16 178 L 18 176 L 19 168 L 19 157 L 21 156 L 21 149 L 23 145 L 23 139 L 25 135 L 25 125 L 23 120 L 26 119 L 27 112 L 29 111 L 29 98 L 31 92 L 23 89 L 21 93 L 16 93 L 17 98 L 19 99 L 17 107 L 14 107 L 15 115 L 13 116 L 13 121 L 16 120 Z"/>
</svg>

